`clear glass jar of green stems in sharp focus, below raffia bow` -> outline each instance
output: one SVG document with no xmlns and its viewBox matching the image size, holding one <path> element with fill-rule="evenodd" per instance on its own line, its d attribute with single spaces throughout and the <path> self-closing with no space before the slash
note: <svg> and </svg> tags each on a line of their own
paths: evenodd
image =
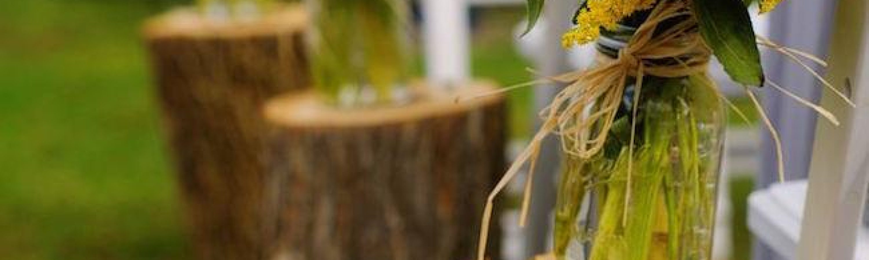
<svg viewBox="0 0 869 260">
<path fill-rule="evenodd" d="M 614 58 L 632 34 L 625 26 L 604 32 L 600 55 Z M 642 84 L 637 104 L 636 86 L 625 87 L 599 154 L 564 154 L 559 259 L 711 259 L 726 123 L 720 95 L 706 72 L 646 75 Z"/>
</svg>

